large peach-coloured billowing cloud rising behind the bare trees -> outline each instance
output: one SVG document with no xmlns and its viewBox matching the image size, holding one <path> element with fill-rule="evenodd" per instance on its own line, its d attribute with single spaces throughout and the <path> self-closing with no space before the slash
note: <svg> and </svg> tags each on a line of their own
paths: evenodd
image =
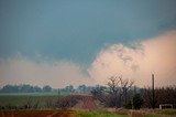
<svg viewBox="0 0 176 117">
<path fill-rule="evenodd" d="M 101 50 L 89 68 L 91 77 L 106 84 L 108 77 L 122 75 L 139 86 L 150 86 L 151 74 L 155 74 L 157 86 L 176 84 L 176 31 L 132 45 Z"/>
</svg>

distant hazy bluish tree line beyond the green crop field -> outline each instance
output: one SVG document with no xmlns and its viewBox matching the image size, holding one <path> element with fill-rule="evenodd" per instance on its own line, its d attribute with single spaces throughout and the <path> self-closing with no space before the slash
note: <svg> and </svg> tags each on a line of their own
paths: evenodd
<svg viewBox="0 0 176 117">
<path fill-rule="evenodd" d="M 30 84 L 21 84 L 21 85 L 4 85 L 0 88 L 0 93 L 59 93 L 59 94 L 90 94 L 94 89 L 94 86 L 79 85 L 78 87 L 74 87 L 73 85 L 65 86 L 64 88 L 53 88 L 50 85 L 45 85 L 43 87 L 32 86 Z"/>
</svg>

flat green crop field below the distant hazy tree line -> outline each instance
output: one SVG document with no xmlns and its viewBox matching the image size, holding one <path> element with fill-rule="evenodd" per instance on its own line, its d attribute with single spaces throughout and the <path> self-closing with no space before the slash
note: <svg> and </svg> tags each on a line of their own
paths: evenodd
<svg viewBox="0 0 176 117">
<path fill-rule="evenodd" d="M 55 102 L 57 97 L 56 93 L 0 94 L 0 106 L 23 106 L 30 102 L 32 105 L 38 104 L 43 107 L 48 102 Z"/>
</svg>

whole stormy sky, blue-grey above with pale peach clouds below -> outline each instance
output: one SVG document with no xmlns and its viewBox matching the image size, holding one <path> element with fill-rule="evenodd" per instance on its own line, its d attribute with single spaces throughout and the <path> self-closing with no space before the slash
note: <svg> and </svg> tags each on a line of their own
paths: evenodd
<svg viewBox="0 0 176 117">
<path fill-rule="evenodd" d="M 0 0 L 0 86 L 176 84 L 175 0 Z"/>
</svg>

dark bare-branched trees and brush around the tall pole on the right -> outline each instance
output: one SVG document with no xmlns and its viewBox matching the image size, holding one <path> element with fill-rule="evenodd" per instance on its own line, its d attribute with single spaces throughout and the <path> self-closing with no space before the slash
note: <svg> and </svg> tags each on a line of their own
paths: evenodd
<svg viewBox="0 0 176 117">
<path fill-rule="evenodd" d="M 111 76 L 107 86 L 97 86 L 91 94 L 106 107 L 140 109 L 152 108 L 153 105 L 151 87 L 136 87 L 133 81 L 124 79 L 122 76 Z M 158 108 L 161 104 L 172 104 L 176 108 L 176 86 L 154 89 L 154 106 Z"/>
</svg>

